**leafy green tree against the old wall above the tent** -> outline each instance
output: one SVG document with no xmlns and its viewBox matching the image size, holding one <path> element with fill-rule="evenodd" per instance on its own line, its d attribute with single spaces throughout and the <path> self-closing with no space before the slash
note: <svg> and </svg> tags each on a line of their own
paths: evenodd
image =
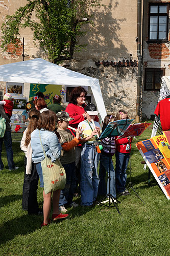
<svg viewBox="0 0 170 256">
<path fill-rule="evenodd" d="M 50 61 L 59 63 L 71 59 L 83 45 L 79 39 L 86 34 L 84 24 L 92 24 L 89 10 L 100 6 L 102 0 L 27 0 L 13 15 L 7 15 L 2 25 L 1 47 L 18 46 L 20 28 L 30 28 L 33 40 L 47 54 Z M 35 19 L 33 13 L 35 12 Z"/>
</svg>

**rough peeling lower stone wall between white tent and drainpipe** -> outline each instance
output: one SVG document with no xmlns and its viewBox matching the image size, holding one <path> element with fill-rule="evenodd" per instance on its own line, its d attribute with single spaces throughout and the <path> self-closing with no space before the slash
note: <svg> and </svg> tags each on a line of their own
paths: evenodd
<svg viewBox="0 0 170 256">
<path fill-rule="evenodd" d="M 70 62 L 71 70 L 99 79 L 107 113 L 123 109 L 135 118 L 137 67 L 97 67 L 92 62 L 89 67 L 78 67 L 78 62 Z"/>
</svg>

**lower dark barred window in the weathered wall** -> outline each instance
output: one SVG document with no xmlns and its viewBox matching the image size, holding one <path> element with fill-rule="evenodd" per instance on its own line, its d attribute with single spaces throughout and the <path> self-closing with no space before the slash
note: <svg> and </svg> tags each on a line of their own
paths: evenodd
<svg viewBox="0 0 170 256">
<path fill-rule="evenodd" d="M 144 91 L 159 91 L 165 69 L 145 69 L 144 71 Z"/>
</svg>

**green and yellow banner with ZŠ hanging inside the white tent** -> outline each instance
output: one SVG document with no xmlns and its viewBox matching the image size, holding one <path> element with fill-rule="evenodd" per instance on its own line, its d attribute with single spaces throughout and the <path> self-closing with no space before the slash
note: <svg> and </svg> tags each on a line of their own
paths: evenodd
<svg viewBox="0 0 170 256">
<path fill-rule="evenodd" d="M 36 93 L 41 92 L 45 95 L 46 104 L 53 103 L 53 97 L 55 94 L 62 95 L 62 86 L 56 84 L 40 84 L 40 83 L 31 83 L 30 84 L 30 98 L 29 101 L 32 100 L 33 96 Z"/>
</svg>

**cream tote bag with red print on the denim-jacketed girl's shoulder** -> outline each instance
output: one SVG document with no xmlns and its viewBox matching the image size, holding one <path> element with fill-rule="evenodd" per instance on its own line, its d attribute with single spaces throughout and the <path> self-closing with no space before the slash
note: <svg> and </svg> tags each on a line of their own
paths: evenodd
<svg viewBox="0 0 170 256">
<path fill-rule="evenodd" d="M 40 136 L 40 131 L 39 131 Z M 40 137 L 41 142 L 41 137 Z M 42 146 L 42 143 L 41 143 Z M 65 169 L 60 163 L 59 159 L 52 162 L 45 154 L 44 148 L 42 146 L 45 159 L 41 161 L 42 175 L 44 182 L 44 192 L 48 194 L 52 191 L 63 189 L 66 183 Z"/>
</svg>

